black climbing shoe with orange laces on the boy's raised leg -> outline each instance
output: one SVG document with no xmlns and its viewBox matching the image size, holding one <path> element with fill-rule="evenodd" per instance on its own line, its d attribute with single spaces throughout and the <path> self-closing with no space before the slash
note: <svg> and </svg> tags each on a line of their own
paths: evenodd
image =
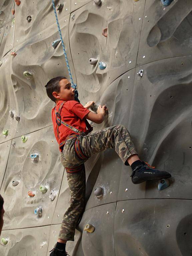
<svg viewBox="0 0 192 256">
<path fill-rule="evenodd" d="M 161 180 L 168 179 L 171 174 L 165 171 L 159 171 L 154 169 L 155 167 L 150 166 L 147 163 L 142 162 L 142 165 L 137 166 L 131 174 L 131 180 L 134 184 L 142 183 L 146 180 Z"/>
</svg>

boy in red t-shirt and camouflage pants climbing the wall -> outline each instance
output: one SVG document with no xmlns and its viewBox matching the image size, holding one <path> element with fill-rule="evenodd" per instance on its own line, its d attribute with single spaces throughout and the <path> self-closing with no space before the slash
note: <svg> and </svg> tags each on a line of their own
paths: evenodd
<svg viewBox="0 0 192 256">
<path fill-rule="evenodd" d="M 106 106 L 99 106 L 97 113 L 74 100 L 74 89 L 66 77 L 56 77 L 46 84 L 48 97 L 56 103 L 52 109 L 54 134 L 61 152 L 61 162 L 67 172 L 70 189 L 70 206 L 64 214 L 56 247 L 50 256 L 68 255 L 65 251 L 67 241 L 74 241 L 75 228 L 85 207 L 85 168 L 84 163 L 94 154 L 114 148 L 125 165 L 132 168 L 131 179 L 134 184 L 147 180 L 170 178 L 166 171 L 159 171 L 142 162 L 131 141 L 128 130 L 115 125 L 88 134 L 92 129 L 86 119 L 100 124 L 107 113 Z"/>
</svg>

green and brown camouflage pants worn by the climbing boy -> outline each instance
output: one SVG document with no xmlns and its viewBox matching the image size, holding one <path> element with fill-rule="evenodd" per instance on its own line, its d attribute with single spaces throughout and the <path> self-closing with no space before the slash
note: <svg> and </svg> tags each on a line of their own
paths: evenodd
<svg viewBox="0 0 192 256">
<path fill-rule="evenodd" d="M 79 145 L 75 147 L 76 144 Z M 77 138 L 68 139 L 61 153 L 61 162 L 67 171 L 67 181 L 71 194 L 70 206 L 63 216 L 58 239 L 74 241 L 75 228 L 85 208 L 85 168 L 84 162 L 94 154 L 114 148 L 125 165 L 127 159 L 137 154 L 128 130 L 115 125 L 93 134 L 82 133 Z"/>
</svg>

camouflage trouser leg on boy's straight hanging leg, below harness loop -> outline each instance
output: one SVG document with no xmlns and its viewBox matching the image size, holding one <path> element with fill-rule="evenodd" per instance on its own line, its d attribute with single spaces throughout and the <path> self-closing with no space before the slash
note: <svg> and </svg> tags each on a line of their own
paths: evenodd
<svg viewBox="0 0 192 256">
<path fill-rule="evenodd" d="M 63 216 L 58 240 L 74 241 L 75 228 L 85 207 L 85 168 L 77 173 L 67 173 L 71 194 L 70 206 Z"/>
</svg>

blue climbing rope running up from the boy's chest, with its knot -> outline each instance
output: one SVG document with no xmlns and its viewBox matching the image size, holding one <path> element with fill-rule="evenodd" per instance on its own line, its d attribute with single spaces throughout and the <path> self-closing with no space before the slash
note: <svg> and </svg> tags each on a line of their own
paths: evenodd
<svg viewBox="0 0 192 256">
<path fill-rule="evenodd" d="M 52 0 L 52 5 L 53 5 L 54 13 L 55 13 L 57 27 L 58 27 L 58 30 L 59 30 L 59 36 L 60 36 L 60 39 L 61 39 L 61 44 L 62 44 L 63 51 L 64 51 L 64 56 L 65 56 L 67 69 L 68 69 L 68 72 L 69 72 L 69 77 L 70 77 L 70 80 L 71 80 L 71 86 L 75 89 L 75 100 L 80 102 L 79 99 L 78 99 L 78 91 L 76 90 L 77 85 L 73 83 L 73 78 L 72 78 L 71 70 L 70 70 L 70 67 L 69 67 L 69 62 L 68 62 L 67 53 L 66 53 L 66 50 L 65 50 L 63 38 L 62 38 L 62 35 L 61 35 L 61 30 L 60 30 L 59 21 L 58 21 L 58 18 L 57 18 L 57 12 L 56 12 L 56 9 L 55 9 L 54 0 Z"/>
</svg>

